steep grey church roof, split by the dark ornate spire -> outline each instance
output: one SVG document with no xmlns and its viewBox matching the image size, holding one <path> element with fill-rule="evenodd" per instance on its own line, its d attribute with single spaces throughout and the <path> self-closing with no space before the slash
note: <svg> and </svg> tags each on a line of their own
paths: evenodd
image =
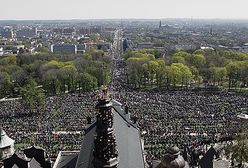
<svg viewBox="0 0 248 168">
<path fill-rule="evenodd" d="M 113 107 L 113 128 L 118 150 L 118 168 L 144 168 L 145 162 L 139 129 L 127 117 L 125 111 L 121 108 L 121 103 L 115 100 L 111 100 L 110 103 Z M 95 122 L 86 130 L 76 165 L 77 168 L 94 167 L 93 149 L 96 128 L 97 123 Z"/>
</svg>

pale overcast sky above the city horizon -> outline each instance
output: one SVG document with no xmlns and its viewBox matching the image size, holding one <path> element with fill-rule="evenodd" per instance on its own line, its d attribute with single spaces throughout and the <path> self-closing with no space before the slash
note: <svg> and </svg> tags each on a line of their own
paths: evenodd
<svg viewBox="0 0 248 168">
<path fill-rule="evenodd" d="M 0 20 L 248 19 L 248 0 L 1 0 Z"/>
</svg>

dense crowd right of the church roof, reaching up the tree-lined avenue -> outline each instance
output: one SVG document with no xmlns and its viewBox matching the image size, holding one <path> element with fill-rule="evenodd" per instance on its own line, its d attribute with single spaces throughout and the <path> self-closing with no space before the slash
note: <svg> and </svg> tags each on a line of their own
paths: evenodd
<svg viewBox="0 0 248 168">
<path fill-rule="evenodd" d="M 182 151 L 204 153 L 206 145 L 230 142 L 248 126 L 247 120 L 238 117 L 248 112 L 247 94 L 211 90 L 134 91 L 128 88 L 122 59 L 115 61 L 112 76 L 112 95 L 137 119 L 148 160 L 160 159 L 170 145 Z"/>
</svg>

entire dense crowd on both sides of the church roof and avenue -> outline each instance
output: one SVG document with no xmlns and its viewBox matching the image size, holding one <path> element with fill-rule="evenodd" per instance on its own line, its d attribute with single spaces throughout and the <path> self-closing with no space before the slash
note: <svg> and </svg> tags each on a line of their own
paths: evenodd
<svg viewBox="0 0 248 168">
<path fill-rule="evenodd" d="M 180 149 L 230 140 L 247 121 L 248 96 L 228 92 L 131 91 L 125 84 L 125 66 L 115 60 L 109 87 L 111 96 L 137 118 L 148 158 L 161 158 L 165 146 Z M 87 117 L 94 118 L 97 93 L 75 93 L 46 99 L 45 110 L 30 113 L 21 100 L 0 102 L 0 123 L 17 147 L 32 144 L 49 157 L 60 150 L 79 150 Z"/>
</svg>

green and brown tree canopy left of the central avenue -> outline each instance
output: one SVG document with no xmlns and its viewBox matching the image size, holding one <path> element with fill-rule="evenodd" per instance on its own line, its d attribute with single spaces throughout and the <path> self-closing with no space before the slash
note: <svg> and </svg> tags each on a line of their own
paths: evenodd
<svg viewBox="0 0 248 168">
<path fill-rule="evenodd" d="M 109 83 L 110 64 L 110 56 L 96 49 L 89 49 L 84 54 L 70 55 L 50 53 L 40 48 L 40 52 L 36 54 L 2 57 L 1 97 L 20 95 L 20 90 L 28 78 L 41 86 L 47 95 L 82 91 L 82 83 L 87 82 L 90 86 L 86 90 L 96 89 L 97 86 Z M 84 74 L 83 78 L 80 74 Z M 83 82 L 82 79 L 86 81 Z"/>
</svg>

